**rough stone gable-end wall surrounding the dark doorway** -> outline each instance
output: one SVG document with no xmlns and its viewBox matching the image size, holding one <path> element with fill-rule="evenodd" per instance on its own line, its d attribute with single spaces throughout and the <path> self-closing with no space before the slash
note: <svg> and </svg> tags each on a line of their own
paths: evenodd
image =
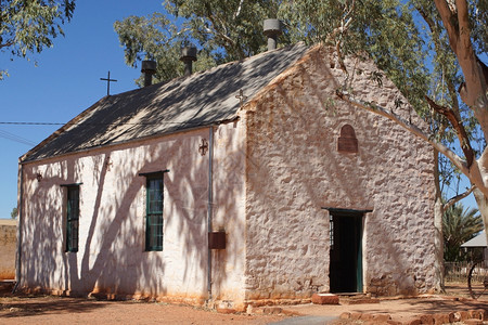
<svg viewBox="0 0 488 325">
<path fill-rule="evenodd" d="M 401 95 L 391 82 L 378 88 L 370 79 L 371 63 L 347 65 L 356 72 L 357 96 L 412 114 L 395 108 Z M 343 80 L 334 55 L 317 47 L 241 112 L 247 120 L 249 301 L 329 291 L 330 224 L 322 207 L 373 210 L 364 218 L 364 291 L 424 292 L 438 281 L 433 151 L 386 118 L 338 100 Z M 337 151 L 344 125 L 354 127 L 358 153 Z"/>
</svg>

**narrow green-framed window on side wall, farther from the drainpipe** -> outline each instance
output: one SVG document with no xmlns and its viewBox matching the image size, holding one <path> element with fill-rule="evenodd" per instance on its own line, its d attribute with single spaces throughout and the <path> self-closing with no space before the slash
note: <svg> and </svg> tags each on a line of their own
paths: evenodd
<svg viewBox="0 0 488 325">
<path fill-rule="evenodd" d="M 78 251 L 79 186 L 67 187 L 66 251 Z"/>
</svg>

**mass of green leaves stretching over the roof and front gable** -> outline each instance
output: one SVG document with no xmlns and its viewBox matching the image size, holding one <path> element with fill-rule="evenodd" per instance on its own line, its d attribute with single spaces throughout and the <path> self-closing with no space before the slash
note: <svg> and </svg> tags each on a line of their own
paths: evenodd
<svg viewBox="0 0 488 325">
<path fill-rule="evenodd" d="M 474 36 L 480 43 L 477 51 L 486 47 L 485 2 L 470 1 L 473 30 L 479 31 Z M 265 51 L 262 22 L 278 17 L 284 23 L 280 44 L 324 42 L 342 55 L 374 60 L 438 132 L 436 139 L 449 144 L 455 134 L 446 118 L 432 113 L 425 95 L 452 107 L 467 123 L 468 133 L 476 133 L 473 114 L 458 100 L 462 74 L 431 0 L 166 0 L 164 5 L 174 16 L 131 16 L 114 25 L 127 64 L 136 66 L 141 60 L 156 58 L 158 80 L 183 74 L 179 51 L 189 42 L 200 49 L 196 69 Z M 371 78 L 381 82 L 376 73 L 372 72 Z"/>
</svg>

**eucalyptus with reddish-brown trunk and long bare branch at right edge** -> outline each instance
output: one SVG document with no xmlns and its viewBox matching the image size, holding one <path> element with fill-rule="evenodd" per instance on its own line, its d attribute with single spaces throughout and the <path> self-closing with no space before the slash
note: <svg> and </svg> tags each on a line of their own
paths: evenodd
<svg viewBox="0 0 488 325">
<path fill-rule="evenodd" d="M 424 118 L 431 122 L 431 130 L 423 130 L 394 109 L 355 98 L 347 89 L 337 92 L 344 101 L 389 118 L 448 158 L 471 182 L 485 229 L 488 227 L 488 69 L 479 55 L 487 50 L 487 6 L 483 0 L 408 3 L 408 9 L 423 20 L 425 52 L 432 51 L 426 58 L 433 66 L 436 87 L 418 99 L 427 108 Z M 343 37 L 347 37 L 347 30 Z M 444 140 L 448 136 L 455 136 L 454 143 L 459 145 L 452 142 L 447 145 Z"/>
</svg>

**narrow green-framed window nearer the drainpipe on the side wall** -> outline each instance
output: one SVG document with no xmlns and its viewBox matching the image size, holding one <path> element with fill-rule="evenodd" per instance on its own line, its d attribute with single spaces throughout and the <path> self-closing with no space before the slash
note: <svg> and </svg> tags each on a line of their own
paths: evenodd
<svg viewBox="0 0 488 325">
<path fill-rule="evenodd" d="M 163 250 L 163 173 L 145 177 L 145 250 Z"/>
</svg>

